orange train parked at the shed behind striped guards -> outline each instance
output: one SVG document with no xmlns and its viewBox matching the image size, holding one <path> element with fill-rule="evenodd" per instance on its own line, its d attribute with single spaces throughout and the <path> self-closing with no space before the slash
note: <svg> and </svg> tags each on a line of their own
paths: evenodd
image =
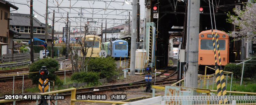
<svg viewBox="0 0 256 105">
<path fill-rule="evenodd" d="M 217 38 L 219 43 L 219 51 L 221 55 L 221 63 L 223 66 L 229 63 L 229 36 L 220 30 L 217 31 Z M 214 37 L 215 37 L 215 30 Z M 213 41 L 212 41 L 212 30 L 205 30 L 199 33 L 199 43 L 198 43 L 198 65 L 199 68 L 204 69 L 204 66 L 215 65 L 215 58 L 213 52 Z M 216 37 L 215 48 L 216 48 L 216 58 L 219 65 L 219 57 L 217 51 Z M 203 67 L 202 67 L 203 66 Z M 199 69 L 200 70 L 200 69 Z"/>
</svg>

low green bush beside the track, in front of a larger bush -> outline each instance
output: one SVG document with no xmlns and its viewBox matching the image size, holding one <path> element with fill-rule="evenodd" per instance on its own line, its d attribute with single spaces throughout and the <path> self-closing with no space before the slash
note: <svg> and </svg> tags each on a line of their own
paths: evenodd
<svg viewBox="0 0 256 105">
<path fill-rule="evenodd" d="M 94 85 L 99 84 L 98 79 L 100 79 L 99 73 L 93 71 L 76 72 L 71 76 L 71 80 L 74 82 L 87 82 Z"/>
</svg>

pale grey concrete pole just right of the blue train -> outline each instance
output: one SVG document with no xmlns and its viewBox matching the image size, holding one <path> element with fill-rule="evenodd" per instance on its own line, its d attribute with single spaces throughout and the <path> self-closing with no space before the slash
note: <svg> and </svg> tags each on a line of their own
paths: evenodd
<svg viewBox="0 0 256 105">
<path fill-rule="evenodd" d="M 135 75 L 135 51 L 136 51 L 136 16 L 137 16 L 137 0 L 132 0 L 132 24 L 131 24 L 131 64 L 130 75 Z"/>
</svg>

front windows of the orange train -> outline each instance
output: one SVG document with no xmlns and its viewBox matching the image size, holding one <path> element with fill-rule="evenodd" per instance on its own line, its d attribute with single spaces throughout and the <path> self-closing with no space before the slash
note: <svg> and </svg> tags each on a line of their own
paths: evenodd
<svg viewBox="0 0 256 105">
<path fill-rule="evenodd" d="M 217 44 L 216 40 L 215 41 L 215 48 L 217 50 Z M 225 50 L 225 40 L 218 40 L 219 43 L 219 50 Z M 213 50 L 213 42 L 212 39 L 201 39 L 201 49 L 206 49 L 206 50 Z"/>
</svg>

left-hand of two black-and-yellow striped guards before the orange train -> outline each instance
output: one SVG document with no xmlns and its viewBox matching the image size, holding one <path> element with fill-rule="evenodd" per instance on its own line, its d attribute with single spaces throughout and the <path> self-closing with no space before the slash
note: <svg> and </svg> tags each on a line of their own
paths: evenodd
<svg viewBox="0 0 256 105">
<path fill-rule="evenodd" d="M 216 57 L 216 49 L 215 49 L 215 41 L 214 41 L 214 35 L 213 35 L 213 30 L 212 30 L 212 41 L 213 41 L 213 51 L 214 51 L 214 57 L 215 57 L 215 75 L 216 75 L 216 84 L 217 84 L 217 92 L 218 92 L 218 96 L 221 96 L 221 82 L 219 81 L 219 67 L 217 64 L 217 57 Z M 219 102 L 219 103 L 222 103 Z"/>
</svg>

